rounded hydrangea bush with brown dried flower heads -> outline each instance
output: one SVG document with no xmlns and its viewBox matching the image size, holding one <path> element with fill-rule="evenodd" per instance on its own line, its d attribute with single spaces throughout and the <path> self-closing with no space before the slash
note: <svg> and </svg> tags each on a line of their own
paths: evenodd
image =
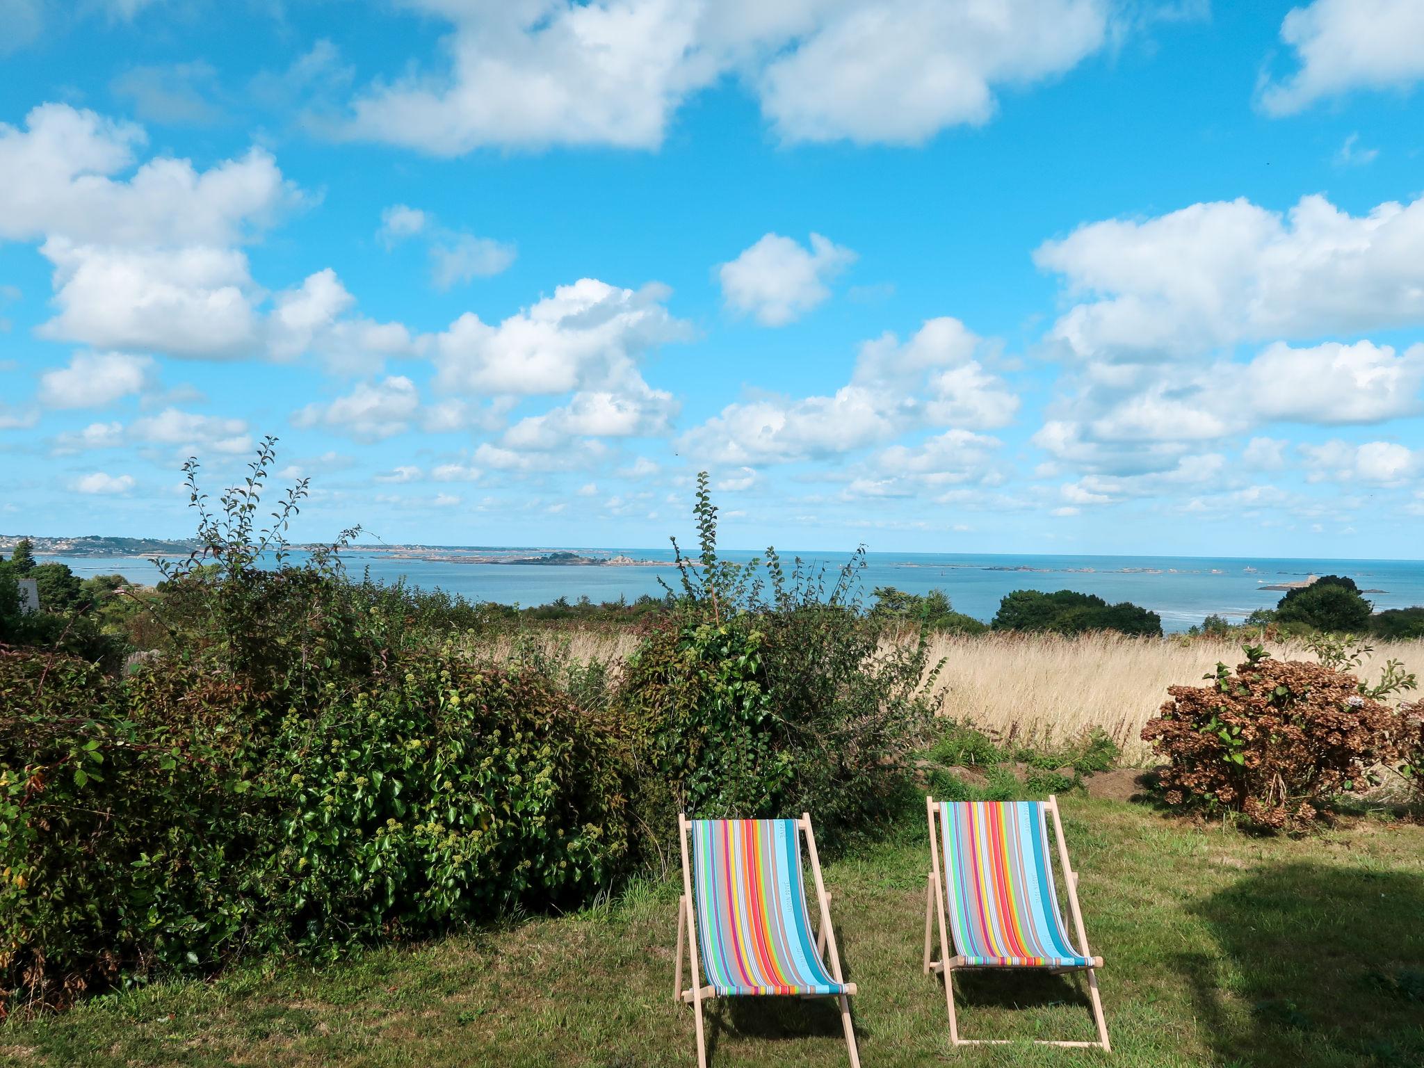
<svg viewBox="0 0 1424 1068">
<path fill-rule="evenodd" d="M 1246 655 L 1235 674 L 1216 665 L 1209 685 L 1171 686 L 1142 729 L 1168 762 L 1169 805 L 1300 830 L 1326 799 L 1367 789 L 1373 768 L 1405 756 L 1408 713 L 1361 692 L 1350 672 L 1253 646 Z"/>
</svg>

